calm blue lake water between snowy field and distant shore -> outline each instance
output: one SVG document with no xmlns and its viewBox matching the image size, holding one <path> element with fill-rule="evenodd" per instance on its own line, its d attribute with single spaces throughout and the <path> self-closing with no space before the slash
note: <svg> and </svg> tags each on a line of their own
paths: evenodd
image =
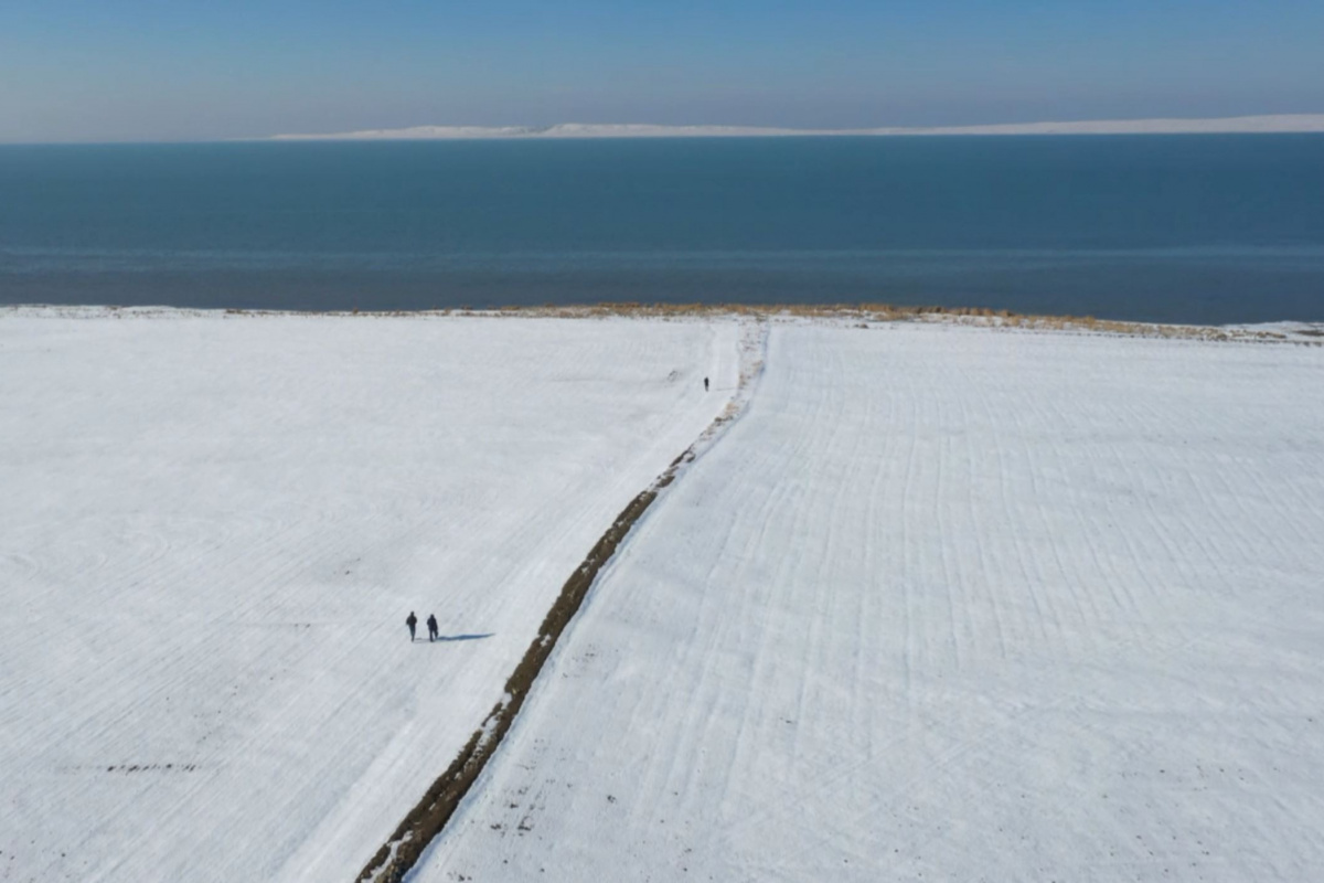
<svg viewBox="0 0 1324 883">
<path fill-rule="evenodd" d="M 0 147 L 0 303 L 1324 320 L 1324 135 Z"/>
</svg>

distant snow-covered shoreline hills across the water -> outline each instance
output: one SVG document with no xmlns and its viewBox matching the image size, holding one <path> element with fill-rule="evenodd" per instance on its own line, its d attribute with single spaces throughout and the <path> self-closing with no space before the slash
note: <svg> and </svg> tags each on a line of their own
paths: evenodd
<svg viewBox="0 0 1324 883">
<path fill-rule="evenodd" d="M 559 123 L 556 126 L 412 126 L 332 134 L 286 134 L 263 140 L 470 140 L 580 138 L 794 138 L 904 135 L 1231 135 L 1324 132 L 1324 114 L 1226 116 L 1218 119 L 1106 119 L 879 128 L 773 128 L 759 126 L 653 126 L 647 123 Z"/>
</svg>

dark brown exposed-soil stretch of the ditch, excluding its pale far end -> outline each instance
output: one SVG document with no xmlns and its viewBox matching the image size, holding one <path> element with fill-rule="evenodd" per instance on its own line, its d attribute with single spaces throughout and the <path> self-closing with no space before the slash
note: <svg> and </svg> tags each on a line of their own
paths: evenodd
<svg viewBox="0 0 1324 883">
<path fill-rule="evenodd" d="M 547 659 L 556 647 L 557 638 L 569 625 L 575 613 L 584 602 L 598 571 L 606 564 L 616 548 L 625 539 L 639 516 L 657 499 L 658 491 L 675 481 L 675 473 L 682 463 L 694 459 L 694 446 L 686 449 L 683 454 L 671 461 L 666 471 L 654 481 L 647 490 L 636 496 L 625 510 L 616 516 L 616 522 L 598 539 L 597 544 L 588 553 L 588 557 L 575 569 L 575 573 L 565 580 L 561 593 L 557 596 L 552 609 L 547 612 L 538 637 L 528 645 L 524 658 L 515 667 L 514 674 L 506 682 L 506 695 L 487 714 L 482 725 L 474 731 L 469 743 L 451 761 L 450 767 L 441 774 L 422 800 L 409 810 L 405 819 L 396 829 L 372 860 L 359 872 L 359 883 L 400 883 L 405 874 L 414 866 L 418 857 L 428 847 L 437 834 L 446 826 L 454 814 L 459 801 L 463 800 L 478 774 L 487 765 L 487 761 L 496 752 L 502 739 L 510 729 L 515 715 L 524 704 L 534 680 L 543 670 Z"/>
</svg>

